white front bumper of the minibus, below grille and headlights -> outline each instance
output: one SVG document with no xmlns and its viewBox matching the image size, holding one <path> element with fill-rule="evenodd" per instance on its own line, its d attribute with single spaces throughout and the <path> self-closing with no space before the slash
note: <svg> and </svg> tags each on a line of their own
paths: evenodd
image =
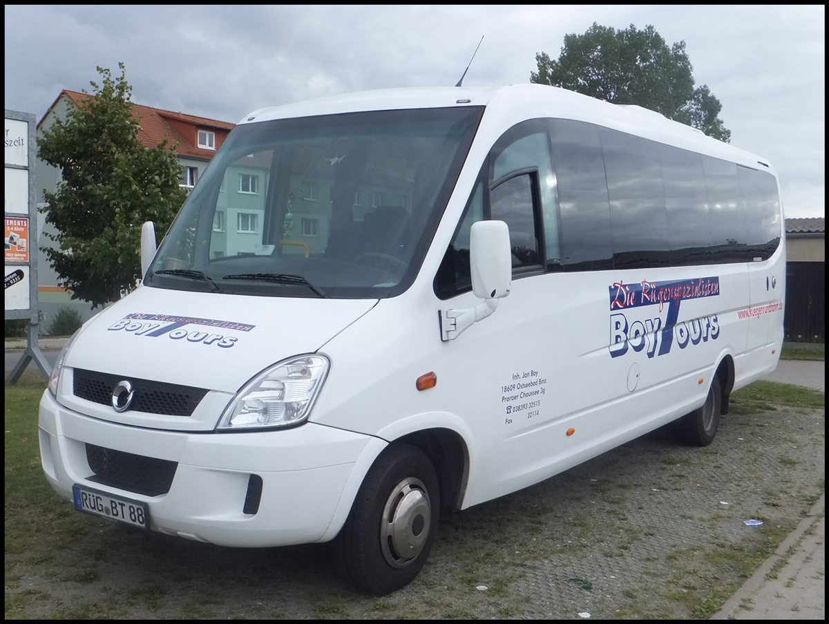
<svg viewBox="0 0 829 624">
<path fill-rule="evenodd" d="M 129 427 L 66 409 L 48 391 L 38 428 L 46 479 L 66 499 L 73 484 L 85 485 L 147 503 L 153 530 L 256 548 L 332 539 L 362 479 L 356 472 L 385 446 L 375 437 L 310 422 L 240 433 Z M 172 485 L 165 494 L 142 495 L 90 480 L 88 444 L 176 462 Z M 251 475 L 262 485 L 254 514 L 243 510 Z"/>
</svg>

